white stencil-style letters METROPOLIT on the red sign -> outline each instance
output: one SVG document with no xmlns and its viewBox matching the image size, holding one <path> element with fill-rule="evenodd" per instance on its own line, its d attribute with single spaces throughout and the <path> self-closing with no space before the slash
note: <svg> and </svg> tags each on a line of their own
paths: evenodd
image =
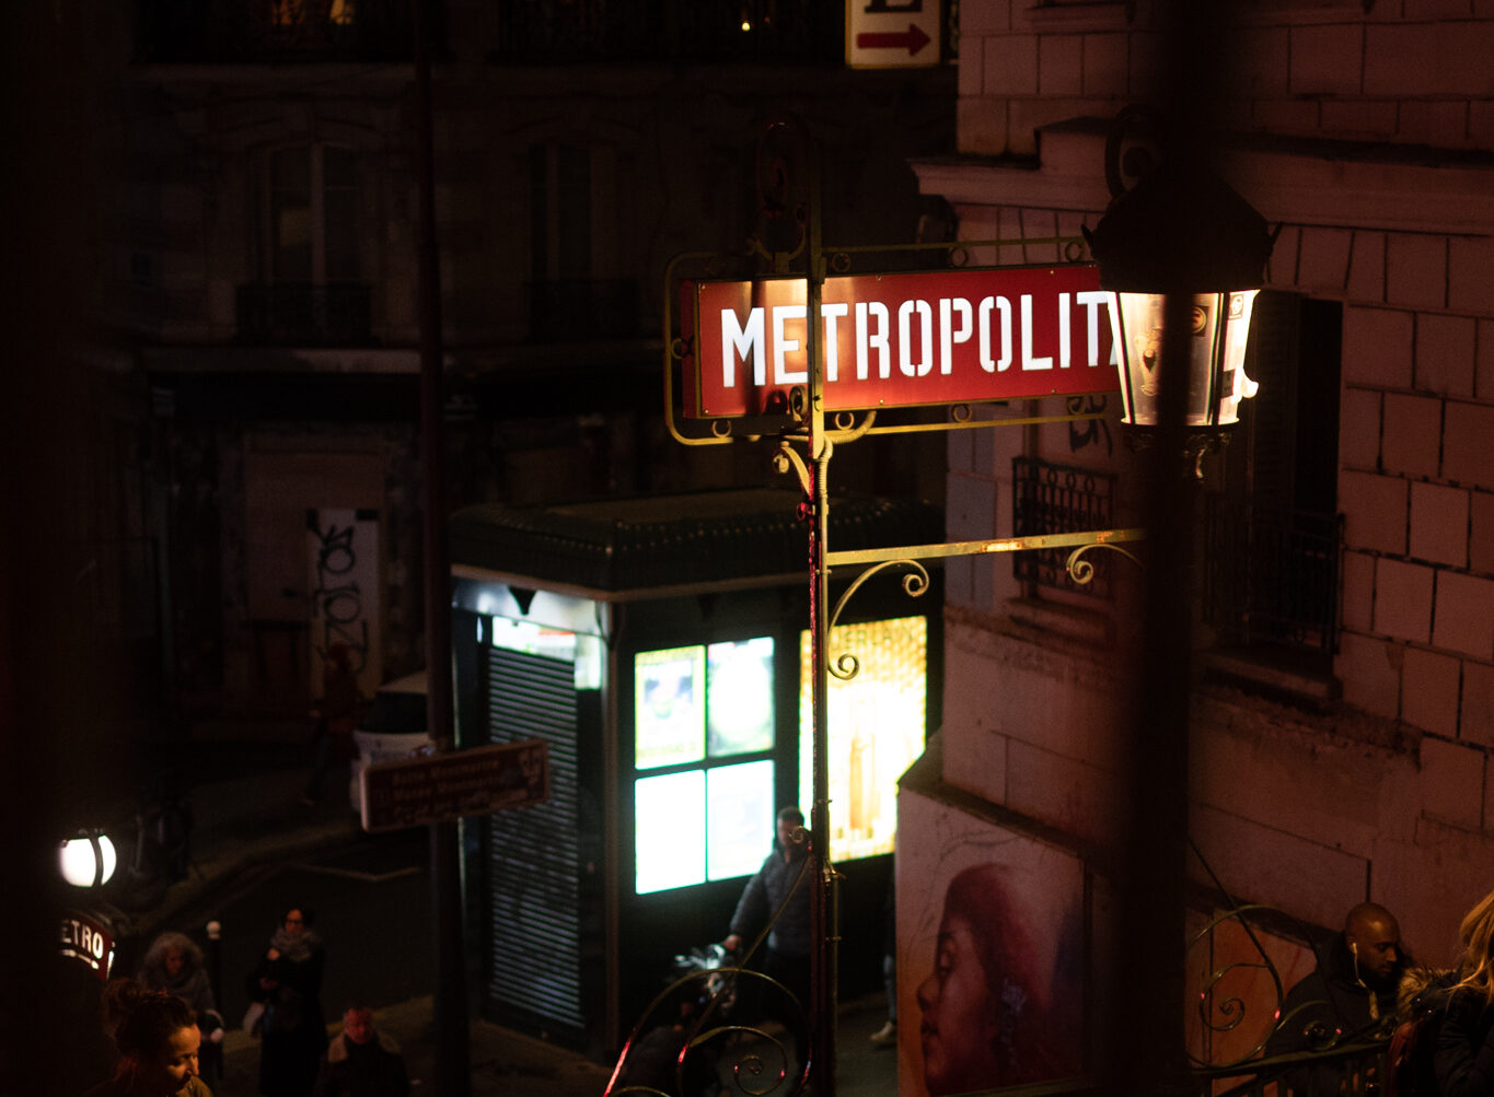
<svg viewBox="0 0 1494 1097">
<path fill-rule="evenodd" d="M 1020 358 L 1023 370 L 1050 370 L 1055 358 L 1058 369 L 1074 366 L 1073 339 L 1070 336 L 1071 310 L 1077 304 L 1085 310 L 1085 357 L 1082 366 L 1094 369 L 1098 366 L 1115 366 L 1118 361 L 1116 345 L 1112 342 L 1109 360 L 1100 361 L 1100 322 L 1101 309 L 1109 312 L 1110 296 L 1101 290 L 1086 290 L 1077 294 L 1058 294 L 1058 331 L 1056 346 L 1047 348 L 1050 354 L 1037 354 L 1038 339 L 1032 327 L 1032 294 L 1022 294 L 1017 299 L 1017 315 L 1020 328 L 1011 328 L 1011 301 L 1005 297 L 983 297 L 979 304 L 971 304 L 964 297 L 941 297 L 934 303 L 926 300 L 907 300 L 898 306 L 898 372 L 905 378 L 925 378 L 935 364 L 938 372 L 949 376 L 955 372 L 955 348 L 962 346 L 976 337 L 979 340 L 979 364 L 986 373 L 1005 373 L 1011 363 Z M 938 322 L 934 321 L 935 310 Z M 825 379 L 840 379 L 840 325 L 838 321 L 847 312 L 844 303 L 829 303 L 820 306 L 820 319 L 825 339 Z M 771 322 L 768 318 L 771 316 Z M 735 309 L 720 310 L 722 330 L 722 385 L 734 388 L 743 379 L 741 367 L 751 363 L 751 382 L 762 385 L 766 376 L 765 363 L 772 358 L 772 382 L 775 385 L 802 385 L 808 382 L 808 370 L 804 366 L 792 367 L 790 355 L 804 354 L 804 322 L 807 309 L 802 304 L 775 304 L 771 307 L 757 304 L 747 313 L 743 324 Z M 973 319 L 974 318 L 974 319 Z M 1109 324 L 1109 318 L 1107 318 Z M 768 331 L 772 339 L 768 339 Z M 887 306 L 881 301 L 856 301 L 856 378 L 865 381 L 872 376 L 872 361 L 875 361 L 875 376 L 892 376 L 892 324 Z M 1016 342 L 1013 342 L 1016 334 Z M 935 357 L 934 343 L 938 342 L 940 352 Z M 992 348 L 999 348 L 999 358 Z M 1017 354 L 1020 349 L 1020 354 Z"/>
</svg>

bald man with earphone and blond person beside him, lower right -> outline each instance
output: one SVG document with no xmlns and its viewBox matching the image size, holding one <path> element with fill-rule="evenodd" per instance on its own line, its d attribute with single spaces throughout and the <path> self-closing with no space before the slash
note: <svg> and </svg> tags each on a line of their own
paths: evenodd
<svg viewBox="0 0 1494 1097">
<path fill-rule="evenodd" d="M 1494 891 L 1460 927 L 1458 963 L 1422 967 L 1395 916 L 1360 903 L 1310 975 L 1286 994 L 1267 1055 L 1354 1040 L 1389 1040 L 1386 1097 L 1494 1097 Z M 1340 1093 L 1342 1069 L 1297 1067 L 1289 1094 Z"/>
</svg>

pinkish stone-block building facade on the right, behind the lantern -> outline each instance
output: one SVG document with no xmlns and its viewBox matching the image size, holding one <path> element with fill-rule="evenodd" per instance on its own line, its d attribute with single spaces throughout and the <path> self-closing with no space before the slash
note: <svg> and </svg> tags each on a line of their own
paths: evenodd
<svg viewBox="0 0 1494 1097">
<path fill-rule="evenodd" d="M 959 239 L 1095 227 L 1109 119 L 1161 85 L 1159 7 L 961 4 L 961 155 L 914 164 L 923 194 L 956 210 Z M 1233 898 L 1337 930 L 1374 900 L 1418 958 L 1449 963 L 1463 913 L 1494 887 L 1494 7 L 1230 10 L 1224 173 L 1279 230 L 1252 334 L 1261 394 L 1225 455 L 1206 458 L 1197 573 L 1179 578 L 1197 584 L 1189 921 L 1204 927 Z M 1061 257 L 1044 243 L 983 258 Z M 1122 433 L 1109 421 L 955 437 L 949 537 L 1038 531 L 1020 528 L 1031 463 L 1086 499 L 1115 478 L 1088 524 L 1134 524 Z M 1304 540 L 1309 527 L 1325 540 Z M 1123 761 L 1115 698 L 1135 642 L 1125 588 L 1141 582 L 1125 563 L 1112 573 L 1107 600 L 1019 576 L 1008 557 L 949 566 L 944 727 L 901 803 L 907 1018 L 934 994 L 944 881 L 986 861 L 1037 906 L 1076 912 L 1083 933 L 1056 942 L 1043 982 L 1091 1007 L 1098 997 L 1062 955 L 1092 958 L 1104 933 Z M 1253 590 L 1228 594 L 1245 576 Z M 1285 604 L 1292 584 L 1312 604 Z M 1264 940 L 1286 985 L 1310 970 L 1300 936 Z M 1200 985 L 1250 952 L 1243 937 L 1201 948 L 1213 952 L 1189 954 Z M 1264 1039 L 1274 998 L 1261 985 L 1246 996 L 1255 1027 L 1222 1036 L 1194 1021 L 1194 1051 L 1228 1058 Z M 901 1091 L 922 1094 L 917 1024 L 902 1031 Z"/>
</svg>

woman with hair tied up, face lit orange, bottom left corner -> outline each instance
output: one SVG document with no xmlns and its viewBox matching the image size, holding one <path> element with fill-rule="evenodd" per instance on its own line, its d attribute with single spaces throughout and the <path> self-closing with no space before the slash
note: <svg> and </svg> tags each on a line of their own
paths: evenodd
<svg viewBox="0 0 1494 1097">
<path fill-rule="evenodd" d="M 202 1036 L 185 1001 L 134 979 L 114 979 L 103 988 L 103 1015 L 120 1066 L 84 1097 L 212 1097 L 197 1076 Z"/>
</svg>

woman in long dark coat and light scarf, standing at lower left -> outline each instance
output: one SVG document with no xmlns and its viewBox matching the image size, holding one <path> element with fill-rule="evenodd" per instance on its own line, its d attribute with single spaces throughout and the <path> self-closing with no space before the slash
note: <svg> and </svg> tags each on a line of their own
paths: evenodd
<svg viewBox="0 0 1494 1097">
<path fill-rule="evenodd" d="M 245 979 L 251 1001 L 264 1006 L 260 1018 L 260 1093 L 266 1097 L 308 1097 L 327 1048 L 321 1012 L 321 972 L 326 952 L 305 907 L 291 907 L 270 936 L 270 946 Z"/>
</svg>

